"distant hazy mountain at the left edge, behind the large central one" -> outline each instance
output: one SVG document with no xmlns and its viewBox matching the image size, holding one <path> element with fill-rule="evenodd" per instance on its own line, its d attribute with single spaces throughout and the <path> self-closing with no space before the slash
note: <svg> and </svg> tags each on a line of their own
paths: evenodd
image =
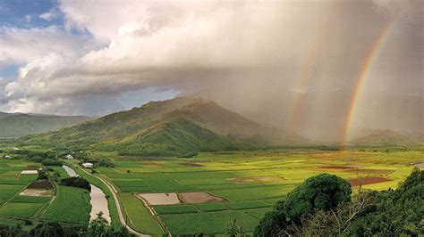
<svg viewBox="0 0 424 237">
<path fill-rule="evenodd" d="M 0 112 L 0 137 L 18 137 L 70 127 L 89 118 Z"/>
</svg>

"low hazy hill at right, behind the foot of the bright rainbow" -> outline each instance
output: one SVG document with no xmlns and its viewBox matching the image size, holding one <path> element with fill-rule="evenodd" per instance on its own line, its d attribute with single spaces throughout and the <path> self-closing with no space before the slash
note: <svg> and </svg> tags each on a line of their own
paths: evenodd
<svg viewBox="0 0 424 237">
<path fill-rule="evenodd" d="M 362 145 L 411 145 L 423 141 L 421 134 L 402 134 L 391 129 L 362 129 L 356 137 L 353 143 Z"/>
</svg>

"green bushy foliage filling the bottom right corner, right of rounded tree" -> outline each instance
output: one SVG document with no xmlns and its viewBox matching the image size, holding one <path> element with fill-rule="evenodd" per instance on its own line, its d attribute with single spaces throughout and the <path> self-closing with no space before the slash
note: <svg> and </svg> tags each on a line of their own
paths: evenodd
<svg viewBox="0 0 424 237">
<path fill-rule="evenodd" d="M 355 218 L 348 234 L 420 235 L 424 233 L 424 170 L 414 169 L 395 191 L 375 192 L 377 203 Z"/>
</svg>

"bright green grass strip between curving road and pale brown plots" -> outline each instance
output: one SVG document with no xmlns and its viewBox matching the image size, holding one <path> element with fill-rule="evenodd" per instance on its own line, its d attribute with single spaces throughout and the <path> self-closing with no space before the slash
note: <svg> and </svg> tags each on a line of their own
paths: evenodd
<svg viewBox="0 0 424 237">
<path fill-rule="evenodd" d="M 120 193 L 119 196 L 123 202 L 123 211 L 128 214 L 128 225 L 143 233 L 154 235 L 164 233 L 157 219 L 148 213 L 141 200 L 131 193 Z"/>
</svg>

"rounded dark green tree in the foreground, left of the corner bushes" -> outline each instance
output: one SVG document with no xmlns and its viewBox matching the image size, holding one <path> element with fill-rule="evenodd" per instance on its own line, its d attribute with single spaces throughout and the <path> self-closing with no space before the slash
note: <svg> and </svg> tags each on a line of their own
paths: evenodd
<svg viewBox="0 0 424 237">
<path fill-rule="evenodd" d="M 321 174 L 310 177 L 286 199 L 276 203 L 259 221 L 256 236 L 292 235 L 299 233 L 306 218 L 315 211 L 329 211 L 351 200 L 351 184 L 338 176 Z"/>
</svg>

